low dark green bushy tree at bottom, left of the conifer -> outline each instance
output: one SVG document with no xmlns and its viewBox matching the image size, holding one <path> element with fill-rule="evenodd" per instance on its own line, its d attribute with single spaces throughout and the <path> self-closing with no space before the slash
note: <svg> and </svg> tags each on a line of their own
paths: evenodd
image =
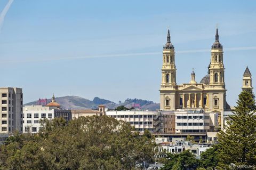
<svg viewBox="0 0 256 170">
<path fill-rule="evenodd" d="M 162 170 L 196 169 L 199 166 L 195 155 L 189 150 L 181 153 L 167 153 Z"/>
</svg>

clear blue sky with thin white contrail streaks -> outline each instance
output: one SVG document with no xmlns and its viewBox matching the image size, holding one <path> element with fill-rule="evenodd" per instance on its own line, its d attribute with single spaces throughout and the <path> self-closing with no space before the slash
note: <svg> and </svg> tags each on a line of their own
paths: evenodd
<svg viewBox="0 0 256 170">
<path fill-rule="evenodd" d="M 218 23 L 234 105 L 246 66 L 256 84 L 255 19 L 255 1 L 14 0 L 0 33 L 0 84 L 23 88 L 25 103 L 52 93 L 159 102 L 167 27 L 181 84 L 193 68 L 197 82 L 207 74 Z"/>
</svg>

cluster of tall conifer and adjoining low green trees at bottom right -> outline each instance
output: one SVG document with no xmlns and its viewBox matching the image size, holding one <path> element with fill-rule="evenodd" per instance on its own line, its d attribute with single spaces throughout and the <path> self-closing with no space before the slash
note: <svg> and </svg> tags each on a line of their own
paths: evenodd
<svg viewBox="0 0 256 170">
<path fill-rule="evenodd" d="M 168 153 L 162 160 L 165 164 L 162 169 L 230 169 L 230 164 L 238 168 L 243 166 L 250 169 L 253 165 L 256 168 L 255 111 L 254 95 L 243 91 L 238 96 L 234 115 L 230 116 L 225 130 L 218 135 L 218 144 L 203 152 L 199 160 L 189 151 Z M 193 140 L 190 136 L 189 139 Z"/>
</svg>

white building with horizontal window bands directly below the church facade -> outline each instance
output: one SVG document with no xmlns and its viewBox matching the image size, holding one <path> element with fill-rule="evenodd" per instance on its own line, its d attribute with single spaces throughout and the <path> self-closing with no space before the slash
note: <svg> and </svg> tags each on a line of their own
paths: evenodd
<svg viewBox="0 0 256 170">
<path fill-rule="evenodd" d="M 175 111 L 176 133 L 206 133 L 210 130 L 210 115 L 202 110 Z"/>
</svg>

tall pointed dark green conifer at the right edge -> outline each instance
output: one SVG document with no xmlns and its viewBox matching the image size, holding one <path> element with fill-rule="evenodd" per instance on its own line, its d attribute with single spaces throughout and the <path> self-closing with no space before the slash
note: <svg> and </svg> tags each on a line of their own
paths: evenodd
<svg viewBox="0 0 256 170">
<path fill-rule="evenodd" d="M 253 165 L 256 163 L 256 116 L 254 95 L 242 91 L 238 96 L 233 116 L 218 136 L 220 143 L 219 168 L 228 165 Z"/>
</svg>

